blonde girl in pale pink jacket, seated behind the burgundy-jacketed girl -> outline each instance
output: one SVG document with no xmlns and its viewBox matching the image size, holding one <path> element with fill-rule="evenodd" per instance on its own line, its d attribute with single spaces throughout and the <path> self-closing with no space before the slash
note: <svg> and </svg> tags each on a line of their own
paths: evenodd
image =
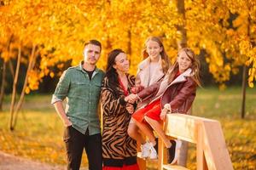
<svg viewBox="0 0 256 170">
<path fill-rule="evenodd" d="M 148 88 L 154 82 L 160 81 L 169 69 L 169 59 L 166 54 L 163 42 L 159 37 L 148 37 L 143 49 L 144 60 L 138 65 L 136 86 L 132 88 L 133 93 L 137 93 L 143 88 Z M 138 103 L 137 108 L 147 104 L 147 101 Z M 142 157 L 150 156 L 148 143 L 145 142 L 141 133 L 138 132 L 138 127 L 131 120 L 128 127 L 128 134 L 132 139 L 136 139 L 141 145 Z"/>
</svg>

